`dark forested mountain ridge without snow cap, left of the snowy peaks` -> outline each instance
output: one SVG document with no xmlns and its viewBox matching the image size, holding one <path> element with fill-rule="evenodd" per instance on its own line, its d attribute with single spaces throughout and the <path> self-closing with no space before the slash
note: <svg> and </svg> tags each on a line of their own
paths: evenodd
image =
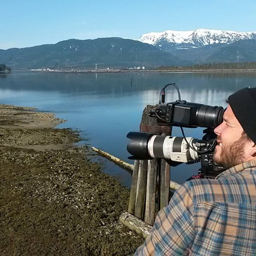
<svg viewBox="0 0 256 256">
<path fill-rule="evenodd" d="M 56 44 L 0 50 L 0 61 L 12 69 L 129 68 L 179 65 L 184 61 L 150 44 L 123 38 L 69 39 Z M 187 62 L 189 63 L 189 62 Z"/>
</svg>

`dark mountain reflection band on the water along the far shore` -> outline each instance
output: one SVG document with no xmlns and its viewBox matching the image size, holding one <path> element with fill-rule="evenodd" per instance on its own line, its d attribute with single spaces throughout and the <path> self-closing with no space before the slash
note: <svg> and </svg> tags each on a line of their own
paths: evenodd
<svg viewBox="0 0 256 256">
<path fill-rule="evenodd" d="M 215 89 L 234 91 L 245 86 L 255 85 L 255 72 L 238 73 L 116 73 L 116 74 L 67 74 L 67 73 L 16 73 L 9 74 L 1 83 L 3 86 L 31 90 L 58 90 L 69 93 L 74 86 L 77 92 L 138 92 L 163 87 L 176 82 L 181 90 Z M 5 75 L 4 75 L 5 76 Z M 132 79 L 132 86 L 130 80 Z M 13 84 L 11 85 L 11 81 Z M 120 90 L 122 86 L 122 90 Z M 168 88 L 169 91 L 174 90 Z"/>
</svg>

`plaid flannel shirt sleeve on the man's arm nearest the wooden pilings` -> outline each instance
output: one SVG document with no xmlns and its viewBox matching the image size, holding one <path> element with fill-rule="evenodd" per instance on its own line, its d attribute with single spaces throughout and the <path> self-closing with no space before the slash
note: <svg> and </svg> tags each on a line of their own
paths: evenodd
<svg viewBox="0 0 256 256">
<path fill-rule="evenodd" d="M 193 200 L 188 182 L 156 216 L 150 236 L 134 256 L 188 255 L 194 241 Z"/>
</svg>

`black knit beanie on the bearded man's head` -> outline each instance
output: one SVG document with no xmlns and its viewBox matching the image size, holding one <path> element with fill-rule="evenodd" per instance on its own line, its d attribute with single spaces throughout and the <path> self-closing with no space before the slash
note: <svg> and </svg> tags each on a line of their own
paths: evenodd
<svg viewBox="0 0 256 256">
<path fill-rule="evenodd" d="M 228 103 L 244 132 L 256 143 L 256 88 L 235 92 L 228 97 Z"/>
</svg>

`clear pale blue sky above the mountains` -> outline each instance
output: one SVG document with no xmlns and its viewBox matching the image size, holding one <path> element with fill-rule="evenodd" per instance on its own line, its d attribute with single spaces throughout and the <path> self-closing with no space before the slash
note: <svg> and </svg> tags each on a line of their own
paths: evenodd
<svg viewBox="0 0 256 256">
<path fill-rule="evenodd" d="M 255 0 L 11 0 L 0 13 L 0 49 L 164 30 L 256 31 Z"/>
</svg>

